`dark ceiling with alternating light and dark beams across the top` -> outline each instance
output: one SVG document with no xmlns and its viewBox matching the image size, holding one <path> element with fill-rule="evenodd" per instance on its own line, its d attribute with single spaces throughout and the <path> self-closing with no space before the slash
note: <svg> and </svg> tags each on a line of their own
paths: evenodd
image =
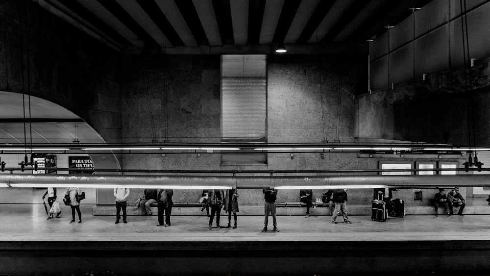
<svg viewBox="0 0 490 276">
<path fill-rule="evenodd" d="M 264 53 L 365 42 L 430 0 L 34 0 L 127 53 Z M 289 49 L 288 49 L 289 50 Z M 270 50 L 269 50 L 270 51 Z"/>
</svg>

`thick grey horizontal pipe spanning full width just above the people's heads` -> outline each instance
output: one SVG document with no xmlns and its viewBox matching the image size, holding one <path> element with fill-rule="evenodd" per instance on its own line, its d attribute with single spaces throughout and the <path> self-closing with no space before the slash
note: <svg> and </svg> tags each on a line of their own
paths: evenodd
<svg viewBox="0 0 490 276">
<path fill-rule="evenodd" d="M 490 175 L 410 176 L 131 176 L 131 175 L 0 175 L 9 187 L 178 187 L 182 189 L 300 189 L 328 188 L 435 188 L 489 186 Z"/>
</svg>

